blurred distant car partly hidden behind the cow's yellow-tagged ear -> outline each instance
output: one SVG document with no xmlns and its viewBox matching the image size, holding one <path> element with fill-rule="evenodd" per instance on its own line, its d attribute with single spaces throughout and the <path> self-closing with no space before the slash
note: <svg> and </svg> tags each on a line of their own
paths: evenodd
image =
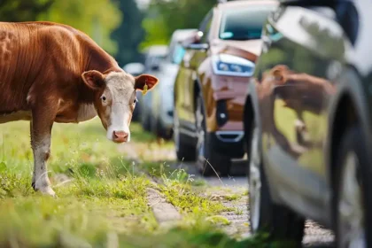
<svg viewBox="0 0 372 248">
<path fill-rule="evenodd" d="M 154 45 L 144 51 L 144 73 L 159 77 L 159 66 L 167 58 L 168 48 L 166 45 Z M 160 82 L 161 83 L 161 82 Z M 159 83 L 159 85 L 160 85 Z M 141 112 L 141 124 L 146 131 L 151 131 L 152 93 L 149 91 L 145 96 L 138 96 Z"/>
</svg>

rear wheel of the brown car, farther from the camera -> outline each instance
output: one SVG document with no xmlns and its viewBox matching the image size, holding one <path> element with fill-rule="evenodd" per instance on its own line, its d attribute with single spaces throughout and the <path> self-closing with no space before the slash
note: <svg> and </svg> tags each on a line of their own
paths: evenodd
<svg viewBox="0 0 372 248">
<path fill-rule="evenodd" d="M 183 136 L 180 133 L 180 120 L 178 119 L 177 113 L 174 111 L 174 146 L 175 154 L 179 161 L 195 161 L 196 151 L 195 147 L 185 143 Z"/>
</svg>

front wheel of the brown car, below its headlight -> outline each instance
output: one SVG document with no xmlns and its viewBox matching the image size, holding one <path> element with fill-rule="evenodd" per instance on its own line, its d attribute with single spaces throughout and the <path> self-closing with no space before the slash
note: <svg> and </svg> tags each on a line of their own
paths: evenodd
<svg viewBox="0 0 372 248">
<path fill-rule="evenodd" d="M 213 150 L 211 137 L 206 131 L 205 111 L 201 96 L 197 99 L 195 119 L 198 134 L 197 164 L 200 173 L 205 176 L 228 175 L 231 167 L 231 159 Z"/>
</svg>

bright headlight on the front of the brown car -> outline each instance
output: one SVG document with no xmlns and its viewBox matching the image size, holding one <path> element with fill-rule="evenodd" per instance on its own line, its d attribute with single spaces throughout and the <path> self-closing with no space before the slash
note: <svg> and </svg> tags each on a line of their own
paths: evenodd
<svg viewBox="0 0 372 248">
<path fill-rule="evenodd" d="M 218 54 L 212 58 L 213 72 L 218 75 L 250 77 L 254 63 L 248 59 L 229 54 Z"/>
</svg>

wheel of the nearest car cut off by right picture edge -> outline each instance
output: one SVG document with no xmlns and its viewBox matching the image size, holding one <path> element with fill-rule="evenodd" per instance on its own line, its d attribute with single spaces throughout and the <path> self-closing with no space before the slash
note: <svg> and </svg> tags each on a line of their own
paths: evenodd
<svg viewBox="0 0 372 248">
<path fill-rule="evenodd" d="M 360 127 L 345 132 L 336 161 L 333 213 L 337 247 L 371 247 L 371 164 Z"/>
</svg>

